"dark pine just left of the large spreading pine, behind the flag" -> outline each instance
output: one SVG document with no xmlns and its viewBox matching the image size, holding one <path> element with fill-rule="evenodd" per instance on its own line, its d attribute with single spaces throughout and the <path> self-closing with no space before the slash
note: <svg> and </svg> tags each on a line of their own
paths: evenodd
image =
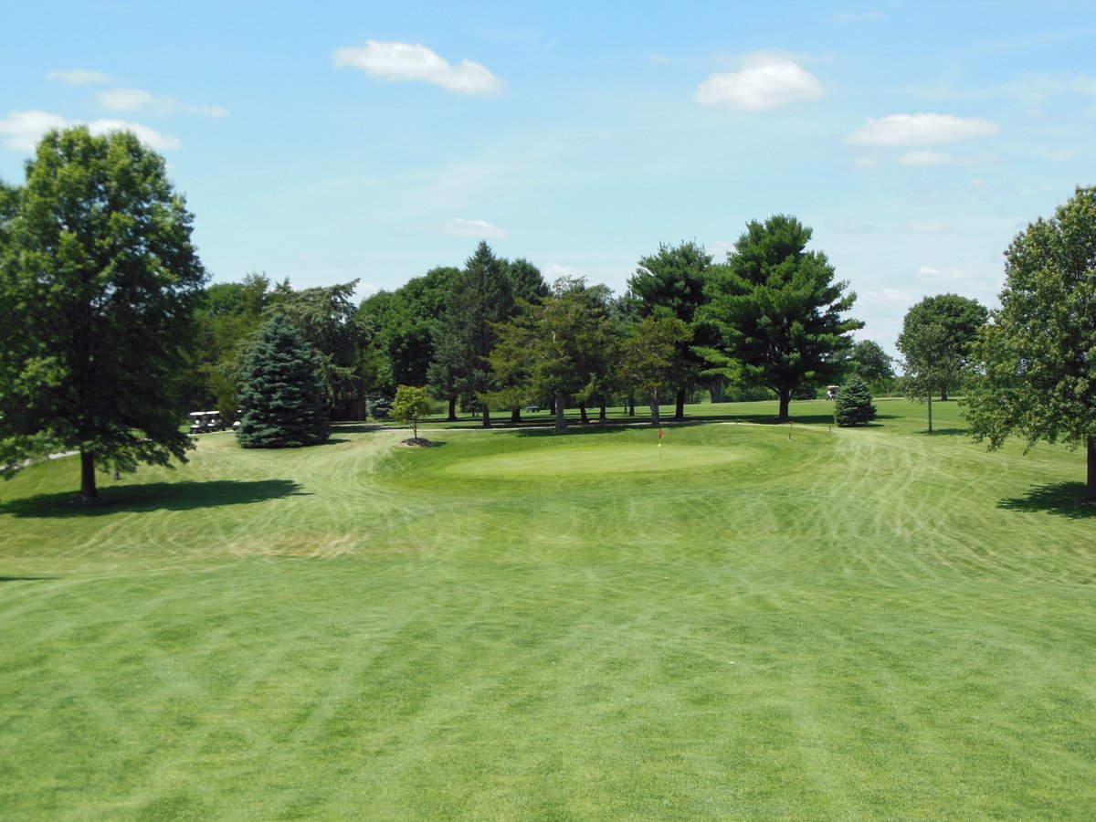
<svg viewBox="0 0 1096 822">
<path fill-rule="evenodd" d="M 710 278 L 711 254 L 696 242 L 659 246 L 654 254 L 641 258 L 628 288 L 636 300 L 639 316 L 657 319 L 676 317 L 689 329 L 689 342 L 682 341 L 675 354 L 677 370 L 672 377 L 675 389 L 674 419 L 685 418 L 685 396 L 697 385 L 705 366 L 703 357 L 693 352 L 690 343 L 713 342 L 700 322 L 698 310 L 707 301 L 705 287 Z"/>
</svg>

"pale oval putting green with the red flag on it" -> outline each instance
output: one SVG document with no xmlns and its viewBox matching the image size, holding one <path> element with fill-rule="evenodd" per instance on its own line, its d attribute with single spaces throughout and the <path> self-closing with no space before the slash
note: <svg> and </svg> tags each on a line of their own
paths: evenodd
<svg viewBox="0 0 1096 822">
<path fill-rule="evenodd" d="M 630 444 L 579 445 L 567 448 L 536 448 L 518 453 L 496 454 L 446 466 L 446 473 L 460 477 L 557 477 L 604 476 L 664 472 L 684 468 L 734 463 L 747 459 L 747 448 L 712 448 L 710 446 Z"/>
</svg>

